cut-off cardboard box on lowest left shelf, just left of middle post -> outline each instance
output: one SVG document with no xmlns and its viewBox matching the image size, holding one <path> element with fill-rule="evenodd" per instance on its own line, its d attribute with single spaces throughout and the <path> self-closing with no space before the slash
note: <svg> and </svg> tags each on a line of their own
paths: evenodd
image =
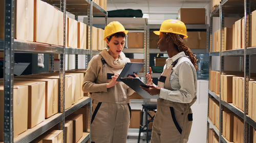
<svg viewBox="0 0 256 143">
<path fill-rule="evenodd" d="M 63 142 L 63 131 L 53 130 L 44 139 L 42 143 L 62 143 Z"/>
</svg>

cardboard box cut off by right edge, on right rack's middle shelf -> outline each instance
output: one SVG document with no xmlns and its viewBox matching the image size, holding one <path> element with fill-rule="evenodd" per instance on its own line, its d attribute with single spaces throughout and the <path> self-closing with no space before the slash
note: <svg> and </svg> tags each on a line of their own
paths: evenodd
<svg viewBox="0 0 256 143">
<path fill-rule="evenodd" d="M 256 122 L 256 81 L 249 81 L 248 89 L 248 116 Z"/>
</svg>

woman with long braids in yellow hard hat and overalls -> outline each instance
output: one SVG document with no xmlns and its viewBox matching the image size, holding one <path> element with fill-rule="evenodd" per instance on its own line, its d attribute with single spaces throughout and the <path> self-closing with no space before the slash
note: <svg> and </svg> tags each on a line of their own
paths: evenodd
<svg viewBox="0 0 256 143">
<path fill-rule="evenodd" d="M 183 43 L 187 38 L 183 22 L 165 20 L 160 31 L 154 33 L 159 35 L 160 51 L 167 51 L 169 58 L 158 85 L 153 84 L 151 74 L 147 73 L 149 88 L 142 87 L 151 95 L 159 95 L 151 143 L 184 143 L 193 121 L 190 106 L 197 99 L 197 59 Z"/>
</svg>

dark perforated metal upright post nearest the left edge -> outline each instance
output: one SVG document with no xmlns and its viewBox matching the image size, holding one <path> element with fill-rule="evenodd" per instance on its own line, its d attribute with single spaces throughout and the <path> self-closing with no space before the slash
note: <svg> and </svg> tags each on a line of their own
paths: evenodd
<svg viewBox="0 0 256 143">
<path fill-rule="evenodd" d="M 13 142 L 13 69 L 15 1 L 5 0 L 4 37 L 4 142 Z"/>
</svg>

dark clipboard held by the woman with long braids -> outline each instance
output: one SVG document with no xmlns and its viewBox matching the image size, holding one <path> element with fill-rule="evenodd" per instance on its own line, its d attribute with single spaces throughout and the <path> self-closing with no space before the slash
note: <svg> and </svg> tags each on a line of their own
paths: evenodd
<svg viewBox="0 0 256 143">
<path fill-rule="evenodd" d="M 121 81 L 123 81 L 126 85 L 128 85 L 130 88 L 132 88 L 134 91 L 136 91 L 140 96 L 147 99 L 158 99 L 159 95 L 150 95 L 146 91 L 144 91 L 140 86 L 146 86 L 145 83 L 143 83 L 138 78 L 120 78 Z"/>
</svg>

